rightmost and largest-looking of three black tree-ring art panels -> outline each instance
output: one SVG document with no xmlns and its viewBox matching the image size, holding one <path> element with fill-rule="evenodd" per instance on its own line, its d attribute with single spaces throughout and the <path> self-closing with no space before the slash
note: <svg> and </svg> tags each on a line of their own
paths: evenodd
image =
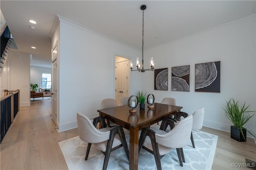
<svg viewBox="0 0 256 170">
<path fill-rule="evenodd" d="M 220 93 L 220 61 L 195 65 L 195 91 Z"/>
</svg>

